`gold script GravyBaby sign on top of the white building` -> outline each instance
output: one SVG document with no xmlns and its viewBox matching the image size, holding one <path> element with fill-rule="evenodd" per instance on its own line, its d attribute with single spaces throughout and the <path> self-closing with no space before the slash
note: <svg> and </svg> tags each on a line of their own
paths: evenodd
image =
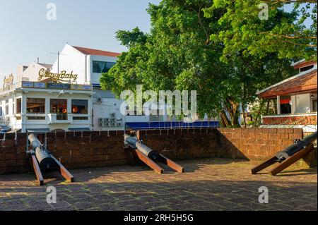
<svg viewBox="0 0 318 225">
<path fill-rule="evenodd" d="M 71 73 L 66 73 L 66 71 L 61 71 L 61 73 L 51 73 L 44 68 L 40 69 L 39 77 L 37 80 L 43 80 L 45 78 L 51 78 L 53 82 L 56 83 L 69 83 L 69 82 L 76 82 L 78 75 Z"/>
</svg>

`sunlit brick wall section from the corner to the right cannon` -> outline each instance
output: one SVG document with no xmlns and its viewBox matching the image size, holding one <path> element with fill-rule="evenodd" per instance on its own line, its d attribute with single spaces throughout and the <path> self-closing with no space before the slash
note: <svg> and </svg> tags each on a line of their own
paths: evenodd
<svg viewBox="0 0 318 225">
<path fill-rule="evenodd" d="M 301 128 L 218 128 L 218 157 L 263 160 L 302 139 Z"/>
</svg>

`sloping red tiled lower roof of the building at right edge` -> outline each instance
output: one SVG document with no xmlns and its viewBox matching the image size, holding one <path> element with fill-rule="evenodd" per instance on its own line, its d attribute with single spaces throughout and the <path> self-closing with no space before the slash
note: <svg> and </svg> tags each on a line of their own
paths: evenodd
<svg viewBox="0 0 318 225">
<path fill-rule="evenodd" d="M 317 92 L 317 69 L 288 80 L 281 85 L 271 87 L 269 90 L 261 92 L 259 97 L 269 99 L 278 95 L 290 95 L 299 92 Z"/>
</svg>

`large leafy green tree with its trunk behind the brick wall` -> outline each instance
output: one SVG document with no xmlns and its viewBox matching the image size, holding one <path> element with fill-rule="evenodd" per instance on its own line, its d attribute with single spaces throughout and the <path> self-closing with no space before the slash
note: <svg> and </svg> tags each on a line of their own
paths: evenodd
<svg viewBox="0 0 318 225">
<path fill-rule="evenodd" d="M 278 25 L 293 26 L 297 13 L 274 8 L 266 23 L 256 14 L 248 16 L 245 28 L 239 28 L 241 22 L 234 24 L 237 18 L 228 18 L 233 7 L 228 2 L 163 0 L 158 6 L 150 4 L 150 33 L 139 28 L 117 32 L 128 51 L 102 74 L 102 88 L 117 97 L 123 90 L 136 92 L 139 84 L 157 92 L 196 90 L 200 116 L 219 116 L 224 126 L 240 126 L 240 106 L 254 101 L 257 90 L 293 75 L 290 63 L 300 56 L 287 47 L 265 49 L 256 33 L 273 32 Z M 229 19 L 232 23 L 225 23 Z M 247 35 L 253 25 L 257 31 Z"/>
</svg>

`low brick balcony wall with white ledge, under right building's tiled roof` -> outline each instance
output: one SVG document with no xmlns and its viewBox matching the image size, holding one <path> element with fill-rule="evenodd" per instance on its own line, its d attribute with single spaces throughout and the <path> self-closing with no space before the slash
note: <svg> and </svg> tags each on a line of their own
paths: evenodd
<svg viewBox="0 0 318 225">
<path fill-rule="evenodd" d="M 262 124 L 264 126 L 317 126 L 317 112 L 308 114 L 281 114 L 262 116 Z"/>
</svg>

